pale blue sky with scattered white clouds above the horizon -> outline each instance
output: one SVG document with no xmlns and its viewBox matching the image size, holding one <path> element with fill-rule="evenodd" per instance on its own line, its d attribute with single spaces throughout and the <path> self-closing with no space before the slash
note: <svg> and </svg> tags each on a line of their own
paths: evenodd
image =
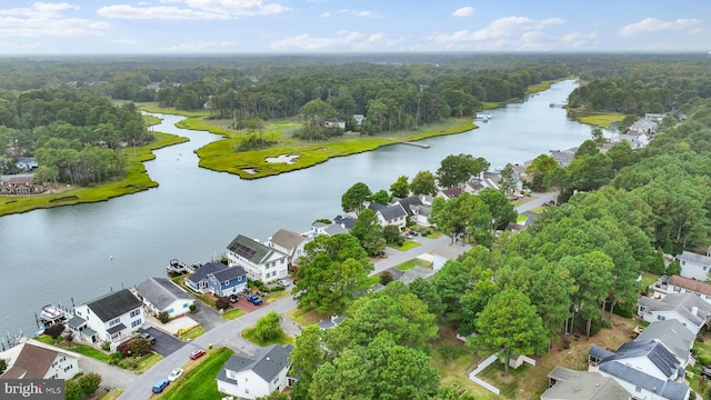
<svg viewBox="0 0 711 400">
<path fill-rule="evenodd" d="M 709 0 L 0 2 L 0 56 L 708 52 Z"/>
</svg>

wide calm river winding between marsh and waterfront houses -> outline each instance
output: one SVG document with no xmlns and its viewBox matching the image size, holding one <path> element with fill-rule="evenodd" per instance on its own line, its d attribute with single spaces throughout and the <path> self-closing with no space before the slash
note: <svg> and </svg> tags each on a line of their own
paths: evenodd
<svg viewBox="0 0 711 400">
<path fill-rule="evenodd" d="M 575 147 L 590 138 L 591 127 L 549 107 L 574 87 L 560 82 L 523 103 L 492 110 L 480 129 L 424 140 L 430 149 L 390 146 L 252 181 L 198 168 L 193 150 L 219 137 L 178 129 L 182 117 L 162 116 L 157 131 L 190 141 L 158 150 L 146 163 L 159 188 L 0 218 L 0 336 L 34 332 L 34 313 L 43 304 L 71 307 L 72 299 L 80 303 L 163 276 L 172 258 L 209 261 L 239 233 L 263 241 L 280 228 L 307 231 L 316 219 L 340 213 L 341 196 L 358 181 L 377 191 L 400 176 L 434 172 L 449 154 L 483 157 L 493 169 Z"/>
</svg>

